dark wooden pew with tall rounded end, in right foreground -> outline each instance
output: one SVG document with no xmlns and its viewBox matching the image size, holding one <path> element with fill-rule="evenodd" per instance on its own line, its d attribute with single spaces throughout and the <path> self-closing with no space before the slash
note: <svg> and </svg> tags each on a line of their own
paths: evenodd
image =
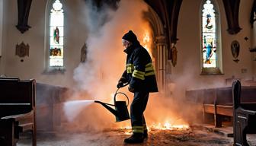
<svg viewBox="0 0 256 146">
<path fill-rule="evenodd" d="M 232 84 L 234 145 L 248 146 L 246 134 L 256 133 L 256 103 L 241 103 L 241 96 L 241 83 L 234 81 Z"/>
</svg>

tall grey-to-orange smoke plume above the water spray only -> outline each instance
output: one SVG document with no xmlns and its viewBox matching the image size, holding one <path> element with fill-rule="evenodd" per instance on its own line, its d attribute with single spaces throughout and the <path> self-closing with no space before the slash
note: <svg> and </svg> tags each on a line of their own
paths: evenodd
<svg viewBox="0 0 256 146">
<path fill-rule="evenodd" d="M 104 99 L 114 92 L 125 68 L 126 54 L 121 37 L 128 30 L 133 30 L 138 37 L 142 36 L 142 26 L 145 26 L 142 11 L 147 10 L 147 5 L 138 0 L 123 0 L 117 11 L 109 8 L 97 11 L 90 4 L 85 7 L 88 15 L 85 23 L 89 30 L 86 42 L 88 60 L 75 68 L 74 79 L 78 88 L 87 90 L 91 97 Z M 106 20 L 106 15 L 108 20 L 104 24 L 101 20 Z"/>
</svg>

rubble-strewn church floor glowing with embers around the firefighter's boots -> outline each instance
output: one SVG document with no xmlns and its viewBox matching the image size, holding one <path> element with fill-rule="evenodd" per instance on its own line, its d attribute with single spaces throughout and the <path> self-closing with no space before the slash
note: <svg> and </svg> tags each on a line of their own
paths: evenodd
<svg viewBox="0 0 256 146">
<path fill-rule="evenodd" d="M 38 134 L 38 146 L 52 145 L 126 145 L 123 144 L 123 139 L 128 137 L 130 129 L 107 129 L 103 132 L 81 132 L 58 134 Z M 255 135 L 254 135 L 255 136 Z M 217 146 L 230 145 L 232 146 L 233 139 L 227 136 L 219 135 L 215 132 L 210 132 L 206 129 L 198 127 L 190 127 L 189 129 L 150 129 L 149 137 L 142 144 L 136 145 L 175 145 L 175 146 Z M 255 137 L 249 138 L 251 145 L 256 142 Z M 18 141 L 18 146 L 28 146 L 30 138 L 28 135 L 21 136 Z M 129 144 L 128 144 L 129 145 Z"/>
</svg>

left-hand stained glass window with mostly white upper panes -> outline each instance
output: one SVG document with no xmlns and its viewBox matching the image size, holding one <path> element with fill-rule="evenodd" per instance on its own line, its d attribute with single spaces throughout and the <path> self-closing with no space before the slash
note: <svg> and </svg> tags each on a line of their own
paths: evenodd
<svg viewBox="0 0 256 146">
<path fill-rule="evenodd" d="M 63 66 L 63 37 L 64 14 L 62 3 L 59 0 L 53 2 L 50 11 L 50 67 Z"/>
</svg>

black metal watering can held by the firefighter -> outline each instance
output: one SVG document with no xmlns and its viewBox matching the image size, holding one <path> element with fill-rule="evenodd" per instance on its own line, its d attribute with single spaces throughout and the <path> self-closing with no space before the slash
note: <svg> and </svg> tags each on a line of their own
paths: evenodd
<svg viewBox="0 0 256 146">
<path fill-rule="evenodd" d="M 127 84 L 124 84 L 124 86 L 126 86 Z M 117 89 L 117 91 L 120 88 Z M 116 122 L 121 122 L 124 121 L 126 119 L 130 119 L 130 115 L 127 109 L 127 106 L 129 105 L 129 98 L 127 97 L 126 94 L 123 94 L 122 92 L 117 92 L 114 94 L 114 104 L 109 104 L 109 103 L 103 103 L 101 101 L 95 100 L 94 103 L 100 103 L 102 106 L 104 106 L 106 109 L 108 109 L 111 113 L 114 114 L 114 116 L 116 116 Z M 116 97 L 117 94 L 123 94 L 126 98 L 127 98 L 127 105 L 126 105 L 126 101 L 117 101 Z M 110 106 L 114 106 L 115 109 L 113 109 Z"/>
</svg>

